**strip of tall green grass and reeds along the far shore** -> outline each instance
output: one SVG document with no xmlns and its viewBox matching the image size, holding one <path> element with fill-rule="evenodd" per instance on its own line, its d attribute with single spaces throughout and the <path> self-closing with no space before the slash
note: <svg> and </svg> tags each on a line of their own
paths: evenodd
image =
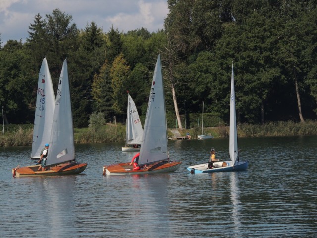
<svg viewBox="0 0 317 238">
<path fill-rule="evenodd" d="M 201 134 L 201 128 L 194 127 L 180 131 L 182 136 L 187 132 L 192 139 Z M 225 138 L 229 136 L 229 127 L 208 127 L 204 133 L 211 134 L 214 138 Z M 238 124 L 238 137 L 267 137 L 267 136 L 297 136 L 317 135 L 317 122 L 306 121 L 305 123 L 269 122 L 264 125 Z M 0 132 L 0 147 L 4 146 L 31 146 L 33 137 L 33 125 L 5 125 L 5 133 Z M 168 130 L 168 137 L 174 137 L 171 129 Z M 75 128 L 74 140 L 76 144 L 85 143 L 107 143 L 124 142 L 125 125 L 106 124 L 98 130 L 91 128 Z"/>
</svg>

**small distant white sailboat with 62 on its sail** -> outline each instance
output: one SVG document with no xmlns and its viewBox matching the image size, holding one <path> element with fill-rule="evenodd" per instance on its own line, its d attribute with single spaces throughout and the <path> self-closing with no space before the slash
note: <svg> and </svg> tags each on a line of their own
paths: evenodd
<svg viewBox="0 0 317 238">
<path fill-rule="evenodd" d="M 140 145 L 143 136 L 143 129 L 138 110 L 128 94 L 128 109 L 126 123 L 125 147 L 122 147 L 123 152 L 140 151 Z M 130 146 L 129 146 L 130 145 Z M 137 147 L 133 147 L 137 146 Z"/>
</svg>

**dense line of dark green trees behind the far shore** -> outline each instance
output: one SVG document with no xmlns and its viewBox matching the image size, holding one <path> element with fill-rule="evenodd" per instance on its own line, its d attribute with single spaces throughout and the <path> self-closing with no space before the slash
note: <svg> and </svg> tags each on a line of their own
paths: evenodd
<svg viewBox="0 0 317 238">
<path fill-rule="evenodd" d="M 33 123 L 38 71 L 47 58 L 53 86 L 67 57 L 75 127 L 92 113 L 125 121 L 127 92 L 145 115 L 161 54 L 168 115 L 229 117 L 234 65 L 238 122 L 316 119 L 317 7 L 314 0 L 168 0 L 164 28 L 78 29 L 54 9 L 30 23 L 25 43 L 0 40 L 0 105 L 10 123 Z M 1 36 L 1 35 L 0 35 Z M 0 38 L 1 39 L 1 38 Z M 187 124 L 187 127 L 191 125 Z M 193 125 L 194 126 L 194 125 Z"/>
</svg>

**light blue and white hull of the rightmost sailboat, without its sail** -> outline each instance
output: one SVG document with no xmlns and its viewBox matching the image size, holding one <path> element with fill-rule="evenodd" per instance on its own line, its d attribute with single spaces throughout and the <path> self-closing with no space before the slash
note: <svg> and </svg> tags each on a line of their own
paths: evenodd
<svg viewBox="0 0 317 238">
<path fill-rule="evenodd" d="M 232 165 L 232 161 L 225 161 L 228 166 L 220 168 L 208 168 L 208 163 L 193 165 L 186 167 L 192 174 L 200 173 L 215 173 L 215 172 L 232 172 L 232 171 L 243 171 L 248 168 L 248 161 L 237 161 L 235 165 Z"/>
</svg>

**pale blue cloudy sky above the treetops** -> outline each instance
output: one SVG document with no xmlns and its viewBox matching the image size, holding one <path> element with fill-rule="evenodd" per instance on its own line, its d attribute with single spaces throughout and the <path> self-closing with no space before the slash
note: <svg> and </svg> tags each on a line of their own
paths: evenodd
<svg viewBox="0 0 317 238">
<path fill-rule="evenodd" d="M 54 9 L 71 15 L 78 29 L 94 21 L 108 32 L 113 26 L 119 32 L 146 28 L 157 32 L 167 17 L 167 0 L 0 0 L 0 34 L 2 47 L 8 40 L 28 37 L 30 24 L 38 13 L 45 18 Z"/>
</svg>

